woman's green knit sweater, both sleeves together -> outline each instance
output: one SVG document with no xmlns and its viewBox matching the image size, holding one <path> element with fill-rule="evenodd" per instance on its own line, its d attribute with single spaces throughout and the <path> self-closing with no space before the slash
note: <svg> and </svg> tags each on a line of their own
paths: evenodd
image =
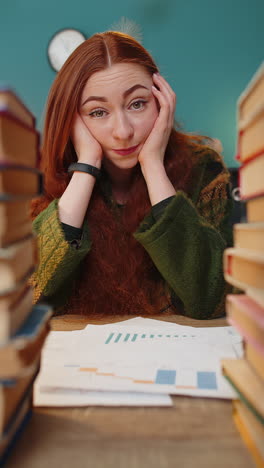
<svg viewBox="0 0 264 468">
<path fill-rule="evenodd" d="M 191 196 L 178 191 L 158 220 L 150 211 L 134 233 L 165 280 L 173 303 L 190 317 L 224 315 L 222 257 L 232 244 L 228 181 L 219 155 L 209 148 L 197 153 Z M 56 307 L 65 303 L 92 248 L 88 224 L 76 249 L 65 239 L 58 200 L 53 200 L 34 220 L 34 229 L 39 242 L 39 266 L 32 278 L 35 300 L 44 296 Z"/>
</svg>

